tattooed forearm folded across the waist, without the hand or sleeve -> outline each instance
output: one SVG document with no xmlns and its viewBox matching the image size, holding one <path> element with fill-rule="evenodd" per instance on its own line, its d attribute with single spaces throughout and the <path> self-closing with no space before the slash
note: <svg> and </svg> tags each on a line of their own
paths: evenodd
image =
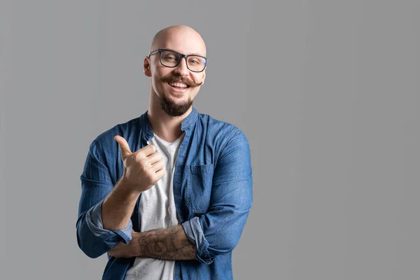
<svg viewBox="0 0 420 280">
<path fill-rule="evenodd" d="M 163 260 L 194 260 L 196 246 L 188 239 L 182 225 L 139 232 L 140 256 Z"/>
</svg>

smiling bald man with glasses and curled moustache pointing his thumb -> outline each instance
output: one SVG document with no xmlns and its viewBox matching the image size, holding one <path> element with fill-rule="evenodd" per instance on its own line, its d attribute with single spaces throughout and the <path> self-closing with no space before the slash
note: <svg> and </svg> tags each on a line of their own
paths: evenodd
<svg viewBox="0 0 420 280">
<path fill-rule="evenodd" d="M 231 252 L 252 204 L 251 155 L 239 128 L 192 106 L 206 55 L 194 29 L 159 31 L 144 59 L 148 111 L 90 144 L 77 240 L 90 258 L 108 253 L 103 279 L 233 278 Z"/>
</svg>

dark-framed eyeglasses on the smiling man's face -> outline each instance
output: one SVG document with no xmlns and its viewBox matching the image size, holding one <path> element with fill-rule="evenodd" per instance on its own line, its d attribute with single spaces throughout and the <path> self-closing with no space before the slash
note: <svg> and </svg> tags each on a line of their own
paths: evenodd
<svg viewBox="0 0 420 280">
<path fill-rule="evenodd" d="M 158 49 L 153 50 L 148 57 L 159 52 L 160 64 L 163 66 L 174 68 L 178 66 L 179 62 L 183 57 L 186 58 L 187 68 L 193 72 L 202 72 L 207 66 L 207 57 L 202 57 L 201 55 L 183 55 L 182 53 L 176 52 L 174 50 L 165 50 Z"/>
</svg>

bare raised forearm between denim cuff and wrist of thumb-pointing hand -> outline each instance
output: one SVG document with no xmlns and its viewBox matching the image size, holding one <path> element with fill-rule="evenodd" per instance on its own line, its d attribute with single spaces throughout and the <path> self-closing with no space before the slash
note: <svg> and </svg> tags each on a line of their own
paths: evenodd
<svg viewBox="0 0 420 280">
<path fill-rule="evenodd" d="M 128 188 L 121 179 L 102 204 L 102 223 L 105 230 L 123 230 L 127 227 L 140 193 Z"/>
</svg>

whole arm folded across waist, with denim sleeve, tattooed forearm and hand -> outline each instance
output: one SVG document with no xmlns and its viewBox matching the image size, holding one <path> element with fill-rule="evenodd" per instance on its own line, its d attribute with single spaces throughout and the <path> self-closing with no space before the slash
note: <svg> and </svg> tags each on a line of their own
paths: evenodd
<svg viewBox="0 0 420 280">
<path fill-rule="evenodd" d="M 214 172 L 211 207 L 173 228 L 132 232 L 129 244 L 109 251 L 120 258 L 134 256 L 193 260 L 210 264 L 239 241 L 252 205 L 251 155 L 248 141 L 237 132 L 225 147 Z"/>
</svg>

